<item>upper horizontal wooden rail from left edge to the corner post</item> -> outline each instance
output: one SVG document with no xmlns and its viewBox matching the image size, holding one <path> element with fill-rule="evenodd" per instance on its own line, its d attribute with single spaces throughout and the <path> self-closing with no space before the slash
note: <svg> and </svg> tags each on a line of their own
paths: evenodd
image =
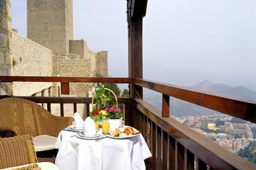
<svg viewBox="0 0 256 170">
<path fill-rule="evenodd" d="M 0 76 L 0 82 L 81 82 L 81 83 L 130 83 L 130 78 L 113 77 L 37 77 L 37 76 Z"/>
</svg>

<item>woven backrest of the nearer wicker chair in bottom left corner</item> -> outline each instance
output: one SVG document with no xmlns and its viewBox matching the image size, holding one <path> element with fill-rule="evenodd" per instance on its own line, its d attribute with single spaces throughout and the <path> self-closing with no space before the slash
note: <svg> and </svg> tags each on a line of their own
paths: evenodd
<svg viewBox="0 0 256 170">
<path fill-rule="evenodd" d="M 0 138 L 0 169 L 37 163 L 31 135 Z"/>
</svg>

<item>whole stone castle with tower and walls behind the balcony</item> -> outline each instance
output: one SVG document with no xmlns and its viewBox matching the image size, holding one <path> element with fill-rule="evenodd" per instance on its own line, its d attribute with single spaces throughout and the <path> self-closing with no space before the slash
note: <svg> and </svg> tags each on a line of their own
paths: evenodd
<svg viewBox="0 0 256 170">
<path fill-rule="evenodd" d="M 108 51 L 93 52 L 86 41 L 73 40 L 73 0 L 27 0 L 28 38 L 11 27 L 10 0 L 1 5 L 0 75 L 108 77 Z M 92 87 L 69 83 L 69 94 L 84 96 Z M 60 91 L 59 82 L 0 82 L 0 95 L 60 96 Z"/>
</svg>

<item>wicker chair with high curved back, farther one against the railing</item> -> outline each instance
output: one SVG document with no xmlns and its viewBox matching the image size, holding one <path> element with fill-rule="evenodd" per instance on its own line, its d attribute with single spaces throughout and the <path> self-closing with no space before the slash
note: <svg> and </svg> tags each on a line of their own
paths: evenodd
<svg viewBox="0 0 256 170">
<path fill-rule="evenodd" d="M 0 100 L 0 136 L 32 135 L 39 162 L 54 163 L 57 150 L 40 150 L 36 141 L 41 140 L 41 136 L 58 137 L 61 129 L 67 128 L 72 121 L 72 117 L 54 116 L 41 105 L 26 99 L 9 97 Z"/>
</svg>

